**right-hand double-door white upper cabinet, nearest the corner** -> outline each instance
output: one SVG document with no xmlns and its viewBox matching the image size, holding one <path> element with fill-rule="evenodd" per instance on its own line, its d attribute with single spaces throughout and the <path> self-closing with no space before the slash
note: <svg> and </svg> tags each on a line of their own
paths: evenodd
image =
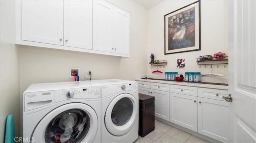
<svg viewBox="0 0 256 143">
<path fill-rule="evenodd" d="M 93 1 L 93 49 L 129 55 L 130 12 L 108 1 Z"/>
</svg>

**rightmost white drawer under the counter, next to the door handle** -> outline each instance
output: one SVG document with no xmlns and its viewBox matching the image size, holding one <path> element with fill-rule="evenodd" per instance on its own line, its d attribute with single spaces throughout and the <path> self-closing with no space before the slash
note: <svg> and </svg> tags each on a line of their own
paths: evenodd
<svg viewBox="0 0 256 143">
<path fill-rule="evenodd" d="M 225 101 L 222 96 L 228 96 L 228 90 L 198 88 L 198 97 Z"/>
</svg>

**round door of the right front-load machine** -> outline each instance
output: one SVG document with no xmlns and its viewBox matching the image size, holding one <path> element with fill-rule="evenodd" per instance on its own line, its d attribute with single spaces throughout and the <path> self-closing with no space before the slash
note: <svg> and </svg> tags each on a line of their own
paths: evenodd
<svg viewBox="0 0 256 143">
<path fill-rule="evenodd" d="M 138 115 L 137 101 L 131 94 L 114 98 L 105 113 L 106 129 L 112 135 L 124 135 L 132 129 Z"/>
</svg>

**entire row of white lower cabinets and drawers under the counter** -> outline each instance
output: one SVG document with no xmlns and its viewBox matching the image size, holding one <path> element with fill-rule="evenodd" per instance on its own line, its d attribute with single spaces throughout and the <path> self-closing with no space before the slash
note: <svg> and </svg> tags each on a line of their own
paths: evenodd
<svg viewBox="0 0 256 143">
<path fill-rule="evenodd" d="M 228 142 L 228 90 L 138 81 L 139 93 L 155 96 L 155 116 Z M 169 87 L 168 87 L 169 86 Z"/>
</svg>

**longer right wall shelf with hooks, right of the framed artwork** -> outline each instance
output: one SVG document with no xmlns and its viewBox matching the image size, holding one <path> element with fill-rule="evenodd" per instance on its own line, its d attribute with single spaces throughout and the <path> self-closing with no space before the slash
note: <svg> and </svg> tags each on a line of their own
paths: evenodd
<svg viewBox="0 0 256 143">
<path fill-rule="evenodd" d="M 206 65 L 217 65 L 217 68 L 219 65 L 224 65 L 224 68 L 226 67 L 226 64 L 228 64 L 228 56 L 224 57 L 224 59 L 215 59 L 215 58 L 207 58 L 204 60 L 200 60 L 200 58 L 196 59 L 197 65 L 200 65 L 199 68 L 201 68 L 201 65 L 204 65 L 204 68 L 206 68 Z"/>
</svg>

